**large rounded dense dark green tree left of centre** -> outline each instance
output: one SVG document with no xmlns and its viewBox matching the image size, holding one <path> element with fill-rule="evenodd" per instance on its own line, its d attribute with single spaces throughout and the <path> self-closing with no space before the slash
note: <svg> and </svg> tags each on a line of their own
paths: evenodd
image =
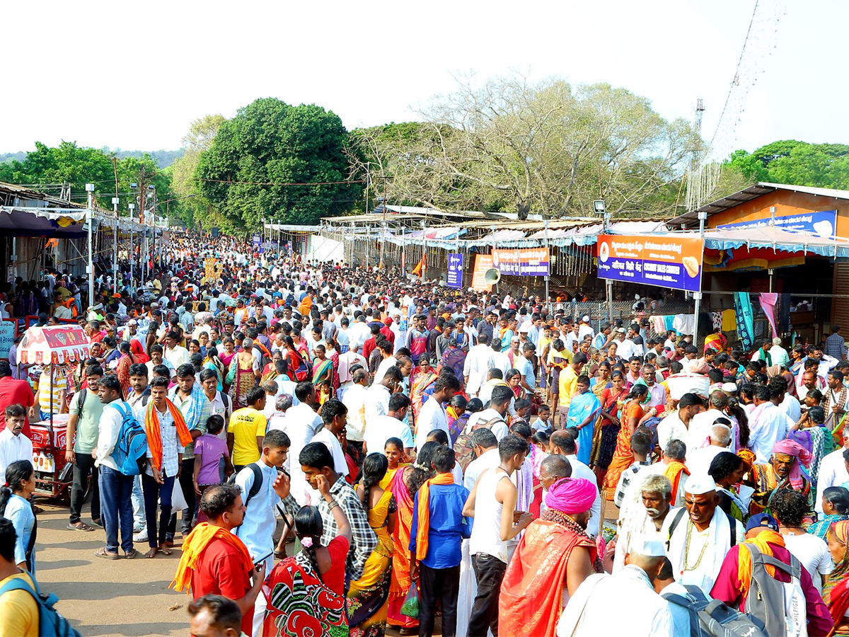
<svg viewBox="0 0 849 637">
<path fill-rule="evenodd" d="M 333 112 L 257 99 L 201 152 L 197 187 L 231 232 L 260 228 L 263 218 L 316 223 L 350 210 L 362 193 L 358 183 L 335 183 L 347 178 L 347 138 Z"/>
</svg>

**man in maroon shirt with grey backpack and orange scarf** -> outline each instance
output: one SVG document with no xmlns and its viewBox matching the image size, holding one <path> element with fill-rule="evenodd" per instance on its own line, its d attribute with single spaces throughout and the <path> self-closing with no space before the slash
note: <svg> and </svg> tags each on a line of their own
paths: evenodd
<svg viewBox="0 0 849 637">
<path fill-rule="evenodd" d="M 711 597 L 761 620 L 771 637 L 829 634 L 834 623 L 810 573 L 784 546 L 779 523 L 758 513 L 731 547 Z M 804 609 L 804 614 L 801 612 Z"/>
</svg>

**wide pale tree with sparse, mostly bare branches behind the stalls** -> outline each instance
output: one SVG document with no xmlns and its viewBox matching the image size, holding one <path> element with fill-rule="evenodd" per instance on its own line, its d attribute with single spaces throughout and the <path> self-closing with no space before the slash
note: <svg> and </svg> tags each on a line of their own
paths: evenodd
<svg viewBox="0 0 849 637">
<path fill-rule="evenodd" d="M 688 122 L 667 122 L 648 99 L 606 84 L 464 82 L 420 115 L 355 137 L 367 166 L 391 172 L 390 199 L 520 218 L 585 215 L 599 196 L 610 211 L 639 209 L 700 146 Z M 363 162 L 353 163 L 361 177 Z"/>
</svg>

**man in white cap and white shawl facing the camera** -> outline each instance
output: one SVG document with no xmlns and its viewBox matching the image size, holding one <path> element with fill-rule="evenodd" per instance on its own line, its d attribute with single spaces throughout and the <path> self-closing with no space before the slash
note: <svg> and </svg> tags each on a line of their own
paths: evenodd
<svg viewBox="0 0 849 637">
<path fill-rule="evenodd" d="M 669 538 L 666 555 L 678 583 L 698 586 L 710 594 L 722 560 L 732 546 L 744 541 L 743 525 L 717 504 L 717 483 L 710 476 L 690 476 L 684 506 L 666 516 L 661 533 Z"/>
</svg>

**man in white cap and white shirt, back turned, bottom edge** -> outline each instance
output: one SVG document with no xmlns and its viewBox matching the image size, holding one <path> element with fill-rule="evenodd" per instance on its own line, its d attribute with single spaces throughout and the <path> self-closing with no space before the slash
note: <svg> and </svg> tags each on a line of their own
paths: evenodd
<svg viewBox="0 0 849 637">
<path fill-rule="evenodd" d="M 660 540 L 635 538 L 625 556 L 625 567 L 613 575 L 591 575 L 578 587 L 557 624 L 558 637 L 672 637 L 672 612 L 654 588 L 663 558 Z M 610 612 L 611 600 L 616 600 L 616 612 Z"/>
</svg>

